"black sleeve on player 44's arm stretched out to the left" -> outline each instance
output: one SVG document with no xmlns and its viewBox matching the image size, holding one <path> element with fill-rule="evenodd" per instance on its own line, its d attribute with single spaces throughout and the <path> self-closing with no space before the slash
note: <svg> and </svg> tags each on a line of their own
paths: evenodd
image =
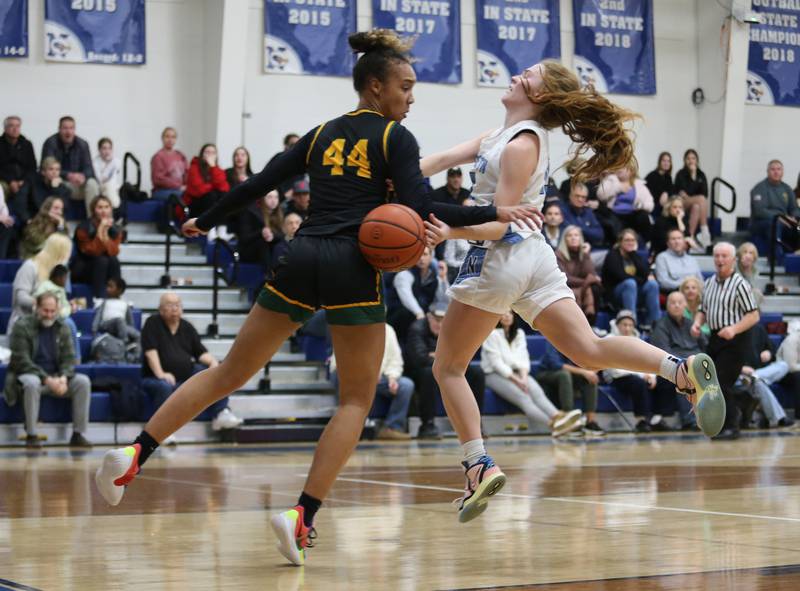
<svg viewBox="0 0 800 591">
<path fill-rule="evenodd" d="M 197 218 L 197 227 L 208 232 L 228 216 L 235 214 L 259 197 L 263 197 L 279 183 L 306 171 L 306 157 L 314 142 L 318 128 L 304 135 L 288 152 L 271 160 L 264 169 L 234 187 L 214 207 Z"/>
</svg>

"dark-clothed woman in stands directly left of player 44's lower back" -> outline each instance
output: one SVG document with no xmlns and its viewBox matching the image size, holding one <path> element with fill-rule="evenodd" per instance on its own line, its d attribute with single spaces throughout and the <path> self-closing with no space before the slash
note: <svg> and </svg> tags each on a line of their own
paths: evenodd
<svg viewBox="0 0 800 591">
<path fill-rule="evenodd" d="M 242 262 L 270 268 L 272 248 L 283 238 L 283 211 L 278 191 L 270 191 L 242 210 L 236 219 Z"/>
</svg>

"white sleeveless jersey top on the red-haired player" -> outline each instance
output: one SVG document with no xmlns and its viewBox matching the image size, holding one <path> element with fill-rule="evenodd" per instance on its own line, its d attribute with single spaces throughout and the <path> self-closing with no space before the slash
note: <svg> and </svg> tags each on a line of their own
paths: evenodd
<svg viewBox="0 0 800 591">
<path fill-rule="evenodd" d="M 550 178 L 550 147 L 547 131 L 530 120 L 515 123 L 508 129 L 500 128 L 481 141 L 478 158 L 475 160 L 475 184 L 470 195 L 478 205 L 494 205 L 497 183 L 500 181 L 500 158 L 503 150 L 508 142 L 526 130 L 534 132 L 539 137 L 539 162 L 536 163 L 536 170 L 525 186 L 520 203 L 532 203 L 539 209 L 544 205 Z M 524 239 L 533 234 L 532 230 L 517 224 L 511 224 L 509 230 L 518 236 L 517 239 Z"/>
</svg>

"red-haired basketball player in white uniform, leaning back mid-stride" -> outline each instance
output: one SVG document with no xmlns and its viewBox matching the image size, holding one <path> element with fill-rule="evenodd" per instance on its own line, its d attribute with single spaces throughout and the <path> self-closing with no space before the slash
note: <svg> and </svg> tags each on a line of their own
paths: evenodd
<svg viewBox="0 0 800 591">
<path fill-rule="evenodd" d="M 547 130 L 561 127 L 577 144 L 577 154 L 593 152 L 586 160 L 575 160 L 578 180 L 597 178 L 634 160 L 625 124 L 635 115 L 592 89 L 581 89 L 575 75 L 556 62 L 543 62 L 514 76 L 502 103 L 506 111 L 502 128 L 423 158 L 423 174 L 474 161 L 472 198 L 479 205 L 523 202 L 541 208 L 549 174 Z M 480 515 L 506 480 L 484 448 L 480 411 L 464 371 L 509 308 L 583 368 L 628 369 L 670 380 L 693 397 L 698 423 L 707 435 L 722 428 L 725 401 L 711 359 L 707 355 L 679 359 L 632 337 L 598 338 L 540 231 L 499 222 L 450 228 L 433 216 L 426 226 L 433 243 L 460 238 L 473 244 L 450 290 L 452 302 L 433 365 L 464 451 L 467 482 L 459 521 Z"/>
</svg>

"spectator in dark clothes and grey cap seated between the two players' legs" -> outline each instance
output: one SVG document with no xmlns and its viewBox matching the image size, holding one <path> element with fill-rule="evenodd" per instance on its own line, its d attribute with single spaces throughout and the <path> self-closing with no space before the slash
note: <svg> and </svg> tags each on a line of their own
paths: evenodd
<svg viewBox="0 0 800 591">
<path fill-rule="evenodd" d="M 441 439 L 439 429 L 434 423 L 436 399 L 441 396 L 439 385 L 433 377 L 433 360 L 436 356 L 436 343 L 442 319 L 447 311 L 447 304 L 436 301 L 430 305 L 428 313 L 411 324 L 406 341 L 406 365 L 414 375 L 419 399 L 419 418 L 422 425 L 417 437 L 419 439 Z M 466 372 L 478 408 L 483 409 L 483 395 L 486 390 L 486 377 L 478 366 L 468 365 Z"/>
</svg>

